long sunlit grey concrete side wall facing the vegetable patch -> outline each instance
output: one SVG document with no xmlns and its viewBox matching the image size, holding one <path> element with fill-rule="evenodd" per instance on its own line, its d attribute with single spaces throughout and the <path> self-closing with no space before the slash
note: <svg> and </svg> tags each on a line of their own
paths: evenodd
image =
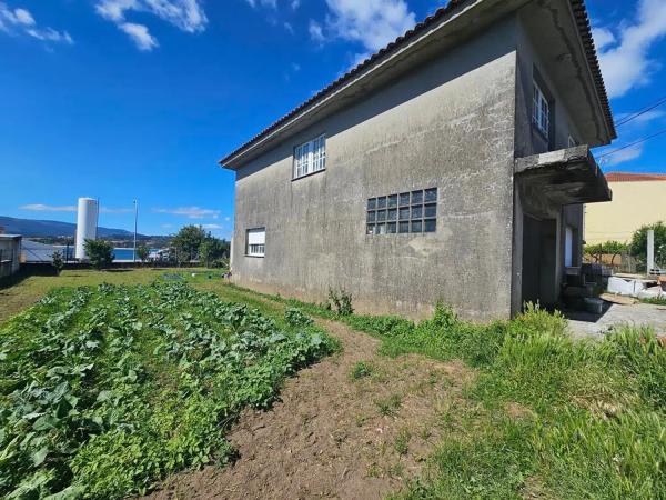
<svg viewBox="0 0 666 500">
<path fill-rule="evenodd" d="M 234 280 L 309 301 L 345 288 L 364 312 L 511 312 L 515 19 L 285 140 L 238 172 Z M 292 181 L 326 133 L 326 170 Z M 437 231 L 366 236 L 366 200 L 438 188 Z M 245 231 L 266 228 L 265 258 Z"/>
</svg>

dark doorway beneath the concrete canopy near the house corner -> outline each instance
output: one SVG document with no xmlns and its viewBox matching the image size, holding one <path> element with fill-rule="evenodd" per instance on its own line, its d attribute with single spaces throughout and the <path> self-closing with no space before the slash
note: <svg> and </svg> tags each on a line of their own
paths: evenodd
<svg viewBox="0 0 666 500">
<path fill-rule="evenodd" d="M 557 302 L 557 222 L 523 217 L 523 303 Z"/>
</svg>

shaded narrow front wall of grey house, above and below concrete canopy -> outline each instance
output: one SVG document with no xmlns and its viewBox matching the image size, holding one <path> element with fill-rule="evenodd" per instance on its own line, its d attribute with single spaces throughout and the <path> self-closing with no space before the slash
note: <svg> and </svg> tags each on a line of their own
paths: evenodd
<svg viewBox="0 0 666 500">
<path fill-rule="evenodd" d="M 535 40 L 543 33 L 536 32 L 532 26 L 534 16 L 545 16 L 544 12 L 538 12 L 539 7 L 529 4 L 518 11 L 517 14 L 517 72 L 516 72 L 516 130 L 515 146 L 516 158 L 538 154 L 546 151 L 565 149 L 568 147 L 569 136 L 581 142 L 581 133 L 578 132 L 572 113 L 569 112 L 569 102 L 566 102 L 558 89 L 553 83 L 552 74 L 556 68 L 548 63 L 537 49 Z M 554 100 L 554 106 L 551 108 L 552 113 L 552 136 L 549 142 L 539 133 L 536 127 L 532 123 L 532 96 L 533 82 L 535 79 L 543 81 L 543 89 L 548 92 Z M 574 84 L 574 83 L 572 83 Z M 515 227 L 514 227 L 514 264 L 513 264 L 513 293 L 512 309 L 514 312 L 519 311 L 522 307 L 521 290 L 523 288 L 524 277 L 522 263 L 524 258 L 523 252 L 523 216 L 531 213 L 531 206 L 538 204 L 541 212 L 544 211 L 544 200 L 538 197 L 538 193 L 525 193 L 519 186 L 516 187 L 515 194 Z M 545 208 L 548 212 L 548 218 L 556 221 L 556 249 L 555 259 L 555 280 L 553 282 L 553 292 L 548 297 L 556 297 L 562 287 L 564 279 L 564 246 L 565 246 L 565 228 L 572 226 L 577 234 L 577 246 L 574 249 L 574 260 L 581 258 L 582 253 L 582 237 L 583 234 L 583 207 L 582 206 L 551 206 Z"/>
</svg>

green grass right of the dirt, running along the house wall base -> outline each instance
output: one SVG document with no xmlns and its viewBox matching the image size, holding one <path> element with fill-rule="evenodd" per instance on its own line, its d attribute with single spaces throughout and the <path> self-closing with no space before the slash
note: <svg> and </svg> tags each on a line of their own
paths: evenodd
<svg viewBox="0 0 666 500">
<path fill-rule="evenodd" d="M 567 334 L 564 318 L 537 308 L 512 321 L 473 324 L 438 307 L 415 323 L 342 317 L 205 280 L 195 286 L 269 316 L 295 308 L 345 322 L 381 339 L 387 356 L 461 359 L 476 369 L 463 402 L 443 410 L 446 432 L 430 473 L 402 498 L 666 499 L 666 349 L 648 329 L 582 341 Z M 354 367 L 350 377 L 365 371 Z M 402 400 L 394 394 L 375 403 L 392 416 Z M 396 451 L 406 441 L 396 440 Z"/>
</svg>

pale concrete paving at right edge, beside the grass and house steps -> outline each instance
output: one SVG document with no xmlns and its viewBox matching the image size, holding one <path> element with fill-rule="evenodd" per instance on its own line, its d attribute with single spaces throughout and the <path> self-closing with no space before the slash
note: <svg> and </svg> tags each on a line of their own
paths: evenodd
<svg viewBox="0 0 666 500">
<path fill-rule="evenodd" d="M 588 312 L 568 312 L 565 316 L 576 338 L 603 338 L 614 327 L 622 324 L 649 326 L 657 334 L 666 336 L 666 306 L 614 303 L 602 316 Z"/>
</svg>

